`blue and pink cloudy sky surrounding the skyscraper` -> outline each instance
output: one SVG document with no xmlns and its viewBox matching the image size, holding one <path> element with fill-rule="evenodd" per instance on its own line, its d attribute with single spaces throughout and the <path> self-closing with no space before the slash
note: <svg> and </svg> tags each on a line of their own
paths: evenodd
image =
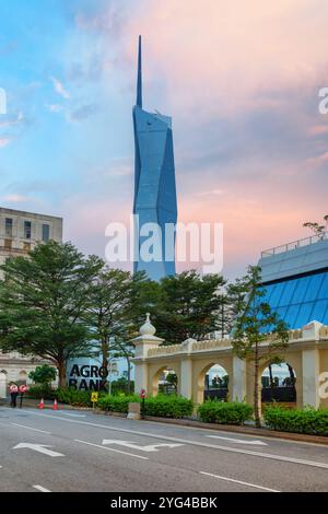
<svg viewBox="0 0 328 514">
<path fill-rule="evenodd" d="M 143 106 L 173 117 L 180 222 L 224 225 L 230 278 L 327 212 L 326 0 L 0 0 L 0 206 L 104 256 L 129 222 Z M 184 266 L 179 266 L 179 271 Z"/>
</svg>

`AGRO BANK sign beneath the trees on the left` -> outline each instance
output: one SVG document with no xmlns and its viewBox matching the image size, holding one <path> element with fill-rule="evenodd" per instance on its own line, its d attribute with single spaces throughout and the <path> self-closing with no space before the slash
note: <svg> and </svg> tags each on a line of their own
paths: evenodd
<svg viewBox="0 0 328 514">
<path fill-rule="evenodd" d="M 69 372 L 69 387 L 79 390 L 107 390 L 108 370 L 90 364 L 72 364 Z"/>
</svg>

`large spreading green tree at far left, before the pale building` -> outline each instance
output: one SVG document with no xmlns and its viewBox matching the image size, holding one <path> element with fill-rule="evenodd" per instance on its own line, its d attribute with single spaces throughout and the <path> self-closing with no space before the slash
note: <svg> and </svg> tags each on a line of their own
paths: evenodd
<svg viewBox="0 0 328 514">
<path fill-rule="evenodd" d="M 104 262 L 85 258 L 70 243 L 39 244 L 28 258 L 9 259 L 1 269 L 0 347 L 51 361 L 66 386 L 67 362 L 89 357 L 91 339 L 83 314 L 90 287 Z"/>
</svg>

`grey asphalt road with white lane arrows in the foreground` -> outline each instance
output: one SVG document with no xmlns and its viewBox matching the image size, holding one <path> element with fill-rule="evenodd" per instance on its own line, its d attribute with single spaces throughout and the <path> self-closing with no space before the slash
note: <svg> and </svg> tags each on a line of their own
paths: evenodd
<svg viewBox="0 0 328 514">
<path fill-rule="evenodd" d="M 0 491 L 327 491 L 328 446 L 0 408 Z"/>
</svg>

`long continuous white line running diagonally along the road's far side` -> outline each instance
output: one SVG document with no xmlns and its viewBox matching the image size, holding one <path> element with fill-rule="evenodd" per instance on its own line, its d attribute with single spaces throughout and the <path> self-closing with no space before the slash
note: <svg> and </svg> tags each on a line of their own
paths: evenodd
<svg viewBox="0 0 328 514">
<path fill-rule="evenodd" d="M 28 411 L 25 411 L 25 412 L 28 412 Z M 186 440 L 186 439 L 181 439 L 181 437 L 169 437 L 168 435 L 152 434 L 152 433 L 149 433 L 149 432 L 141 432 L 141 431 L 137 431 L 137 430 L 119 429 L 117 427 L 112 427 L 112 425 L 107 425 L 107 424 L 91 423 L 90 421 L 71 420 L 71 419 L 67 419 L 67 418 L 61 418 L 60 416 L 43 414 L 40 412 L 31 412 L 30 411 L 30 413 L 34 413 L 35 416 L 40 416 L 40 417 L 49 418 L 49 419 L 58 419 L 58 420 L 61 420 L 61 421 L 66 421 L 67 423 L 85 424 L 87 427 L 95 427 L 95 428 L 98 428 L 98 429 L 106 429 L 106 430 L 112 430 L 112 431 L 116 431 L 116 432 L 125 432 L 125 433 L 134 434 L 134 435 L 144 435 L 145 437 L 162 439 L 164 441 L 172 441 L 172 442 L 175 442 L 175 443 L 190 444 L 190 445 L 194 445 L 194 446 L 201 446 L 201 447 L 204 447 L 204 448 L 220 449 L 222 452 L 232 452 L 232 453 L 244 454 L 244 455 L 253 455 L 255 457 L 260 457 L 260 458 L 271 458 L 273 460 L 282 460 L 282 462 L 300 464 L 300 465 L 304 465 L 304 466 L 313 466 L 313 467 L 316 467 L 316 468 L 328 469 L 328 464 L 326 464 L 326 463 L 316 463 L 314 460 L 302 460 L 302 459 L 298 459 L 298 458 L 285 457 L 283 455 L 265 454 L 265 453 L 255 452 L 255 451 L 251 451 L 251 449 L 242 449 L 242 448 L 233 448 L 233 447 L 230 447 L 230 446 L 220 446 L 220 445 L 215 445 L 215 444 L 201 443 L 199 441 Z"/>
</svg>

